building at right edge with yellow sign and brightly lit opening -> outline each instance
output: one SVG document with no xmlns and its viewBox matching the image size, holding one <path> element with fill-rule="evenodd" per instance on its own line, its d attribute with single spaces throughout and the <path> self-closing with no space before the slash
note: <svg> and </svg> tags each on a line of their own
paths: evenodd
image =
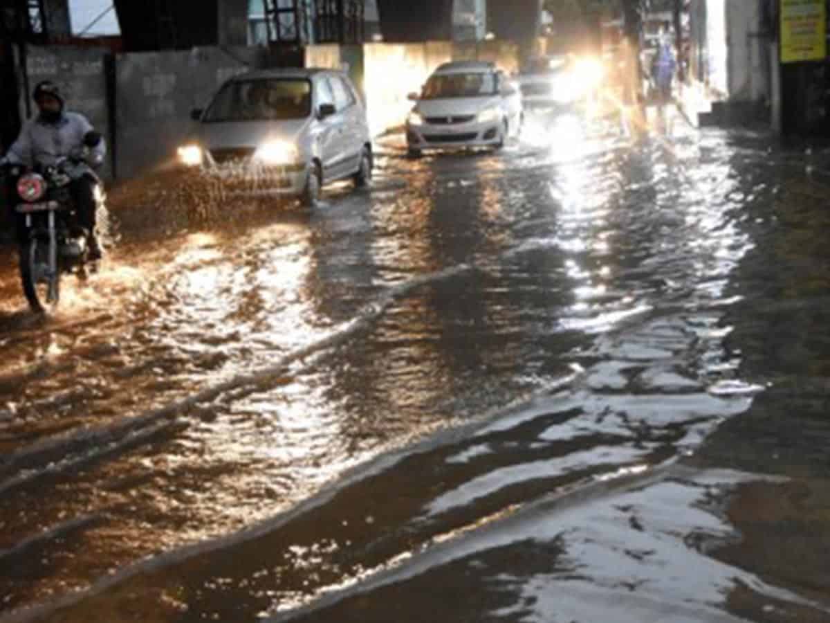
<svg viewBox="0 0 830 623">
<path fill-rule="evenodd" d="M 830 137 L 830 0 L 689 0 L 691 81 L 784 134 Z"/>
</svg>

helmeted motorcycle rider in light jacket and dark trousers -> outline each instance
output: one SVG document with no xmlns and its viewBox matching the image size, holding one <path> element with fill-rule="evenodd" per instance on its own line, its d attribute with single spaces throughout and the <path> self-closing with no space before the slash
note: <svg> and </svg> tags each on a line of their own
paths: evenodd
<svg viewBox="0 0 830 623">
<path fill-rule="evenodd" d="M 0 164 L 54 165 L 62 158 L 80 158 L 85 146 L 90 150 L 86 158 L 88 164 L 97 166 L 104 161 L 106 145 L 103 138 L 95 133 L 84 115 L 66 110 L 61 90 L 54 82 L 39 82 L 32 92 L 32 99 L 37 104 L 38 115 L 23 125 L 20 135 L 9 148 L 6 157 L 0 160 Z M 95 142 L 89 140 L 90 136 L 97 138 L 97 145 L 89 145 L 90 142 Z M 100 243 L 95 233 L 95 190 L 98 184 L 99 180 L 91 172 L 71 182 L 78 222 L 86 231 L 90 260 L 101 257 Z M 20 220 L 17 219 L 16 222 L 17 240 L 23 242 L 25 231 Z"/>
</svg>

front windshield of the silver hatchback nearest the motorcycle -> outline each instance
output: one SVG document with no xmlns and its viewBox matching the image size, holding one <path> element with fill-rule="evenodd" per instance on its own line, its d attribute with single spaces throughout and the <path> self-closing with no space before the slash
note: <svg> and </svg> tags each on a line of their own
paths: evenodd
<svg viewBox="0 0 830 623">
<path fill-rule="evenodd" d="M 232 81 L 222 87 L 204 120 L 305 119 L 311 114 L 311 83 L 303 78 Z"/>
</svg>

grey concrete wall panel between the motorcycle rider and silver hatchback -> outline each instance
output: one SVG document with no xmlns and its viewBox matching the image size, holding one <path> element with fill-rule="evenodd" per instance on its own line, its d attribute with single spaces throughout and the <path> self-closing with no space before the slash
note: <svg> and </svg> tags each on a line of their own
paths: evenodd
<svg viewBox="0 0 830 623">
<path fill-rule="evenodd" d="M 115 65 L 115 174 L 129 178 L 172 161 L 222 82 L 261 64 L 258 49 L 194 48 L 120 54 Z"/>
</svg>

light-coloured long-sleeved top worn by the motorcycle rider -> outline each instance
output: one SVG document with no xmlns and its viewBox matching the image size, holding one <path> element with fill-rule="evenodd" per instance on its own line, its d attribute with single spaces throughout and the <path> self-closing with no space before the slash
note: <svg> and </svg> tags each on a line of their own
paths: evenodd
<svg viewBox="0 0 830 623">
<path fill-rule="evenodd" d="M 39 117 L 28 120 L 20 131 L 14 145 L 6 154 L 6 160 L 14 164 L 56 164 L 61 157 L 66 158 L 73 151 L 84 145 L 84 135 L 93 130 L 92 124 L 84 115 L 76 112 L 64 112 L 55 123 L 46 123 Z M 90 150 L 96 162 L 102 162 L 106 155 L 106 145 L 101 138 L 97 147 Z"/>
</svg>

